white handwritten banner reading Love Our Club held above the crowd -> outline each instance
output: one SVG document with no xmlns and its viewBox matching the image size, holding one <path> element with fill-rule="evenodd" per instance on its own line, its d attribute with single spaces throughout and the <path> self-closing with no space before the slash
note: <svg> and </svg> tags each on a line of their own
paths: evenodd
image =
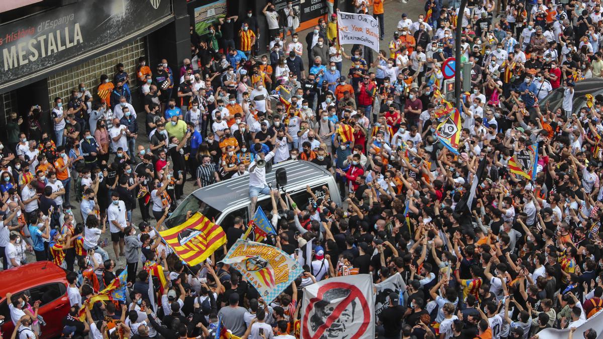
<svg viewBox="0 0 603 339">
<path fill-rule="evenodd" d="M 379 21 L 368 14 L 337 12 L 339 45 L 367 46 L 379 52 Z"/>
</svg>

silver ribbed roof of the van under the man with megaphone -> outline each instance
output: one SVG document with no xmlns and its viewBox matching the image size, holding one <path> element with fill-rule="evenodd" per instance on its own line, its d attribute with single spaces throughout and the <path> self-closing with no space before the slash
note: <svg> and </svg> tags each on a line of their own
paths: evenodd
<svg viewBox="0 0 603 339">
<path fill-rule="evenodd" d="M 276 170 L 278 168 L 287 170 L 287 185 L 285 186 L 287 191 L 293 191 L 300 187 L 305 188 L 306 185 L 315 180 L 332 177 L 329 171 L 315 163 L 306 160 L 288 160 L 273 165 L 270 173 L 266 173 L 266 182 L 272 182 L 275 189 Z M 250 201 L 249 174 L 197 189 L 192 194 L 218 211 L 224 211 L 230 206 L 248 204 Z"/>
</svg>

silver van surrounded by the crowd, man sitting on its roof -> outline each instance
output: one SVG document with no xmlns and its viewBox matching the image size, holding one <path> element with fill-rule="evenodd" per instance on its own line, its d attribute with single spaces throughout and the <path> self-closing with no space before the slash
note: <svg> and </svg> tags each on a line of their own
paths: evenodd
<svg viewBox="0 0 603 339">
<path fill-rule="evenodd" d="M 288 179 L 286 185 L 280 186 L 280 191 L 285 189 L 287 193 L 291 194 L 291 198 L 298 208 L 305 208 L 308 203 L 314 203 L 314 199 L 306 191 L 306 185 L 311 187 L 317 198 L 325 196 L 323 186 L 327 186 L 330 199 L 341 206 L 341 196 L 335 178 L 323 166 L 305 160 L 288 160 L 273 165 L 272 170 L 266 173 L 266 182 L 272 183 L 274 189 L 277 188 L 276 173 L 277 171 L 282 172 L 279 170 L 280 168 L 286 171 Z M 177 226 L 186 220 L 187 211 L 193 213 L 198 211 L 226 230 L 232 226 L 235 217 L 241 217 L 245 223 L 250 220 L 250 215 L 254 211 L 249 211 L 249 205 L 249 174 L 245 174 L 245 176 L 224 180 L 192 192 L 165 223 L 169 228 Z M 256 206 L 261 206 L 266 214 L 270 213 L 272 211 L 270 195 L 260 194 L 257 197 Z M 277 206 L 280 210 L 278 201 Z"/>
</svg>

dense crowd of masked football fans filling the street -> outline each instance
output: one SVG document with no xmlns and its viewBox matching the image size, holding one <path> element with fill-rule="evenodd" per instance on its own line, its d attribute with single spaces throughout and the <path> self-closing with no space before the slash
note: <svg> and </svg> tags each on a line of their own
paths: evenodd
<svg viewBox="0 0 603 339">
<path fill-rule="evenodd" d="M 377 315 L 377 338 L 528 339 L 548 328 L 572 338 L 603 308 L 603 96 L 573 105 L 576 83 L 603 77 L 600 4 L 470 0 L 459 13 L 459 0 L 427 0 L 425 14 L 397 23 L 384 22 L 382 0 L 354 5 L 379 19 L 382 40 L 396 27 L 387 48 L 339 46 L 328 0 L 326 20 L 301 40 L 297 6 L 267 2 L 203 36 L 191 27 L 180 69 L 141 57 L 132 78 L 119 64 L 95 89 L 55 98 L 54 133 L 39 106 L 11 114 L 0 144 L 3 267 L 48 260 L 68 271 L 64 338 L 210 338 L 218 319 L 241 338 L 299 338 L 303 288 L 350 274 L 400 274 L 408 287 Z M 471 91 L 458 98 L 455 154 L 438 138 L 437 93 L 459 20 Z M 560 107 L 540 104 L 560 87 Z M 533 180 L 511 173 L 511 157 L 534 144 Z M 269 188 L 258 159 L 323 166 L 343 203 L 326 192 L 296 205 Z M 303 275 L 272 301 L 220 262 L 223 249 L 189 267 L 157 233 L 190 193 L 185 182 L 246 175 L 250 211 L 259 195 L 273 200 L 266 241 L 294 258 L 312 246 Z M 221 225 L 227 244 L 247 221 Z M 80 318 L 124 270 L 127 302 L 96 302 Z M 6 297 L 13 338 L 44 333 L 39 300 Z"/>
</svg>

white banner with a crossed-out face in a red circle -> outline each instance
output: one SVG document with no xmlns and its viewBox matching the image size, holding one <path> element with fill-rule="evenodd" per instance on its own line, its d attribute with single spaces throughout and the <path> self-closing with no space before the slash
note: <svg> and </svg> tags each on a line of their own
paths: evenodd
<svg viewBox="0 0 603 339">
<path fill-rule="evenodd" d="M 309 285 L 301 312 L 301 339 L 373 339 L 373 279 L 370 274 L 356 274 Z"/>
</svg>

